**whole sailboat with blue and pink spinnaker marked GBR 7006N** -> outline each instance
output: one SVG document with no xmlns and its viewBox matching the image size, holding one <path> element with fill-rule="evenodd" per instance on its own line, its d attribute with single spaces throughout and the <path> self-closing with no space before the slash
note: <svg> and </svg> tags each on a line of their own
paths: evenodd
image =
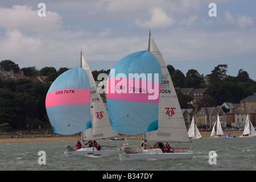
<svg viewBox="0 0 256 182">
<path fill-rule="evenodd" d="M 138 75 L 142 73 L 160 75 L 159 80 L 154 79 L 154 88 L 159 86 L 159 97 L 152 101 L 145 98 L 146 94 L 139 95 L 135 92 L 130 95 L 131 97 L 126 97 L 125 94 L 107 94 L 109 117 L 113 130 L 121 134 L 143 134 L 143 138 L 147 142 L 190 142 L 170 73 L 164 63 L 162 54 L 151 37 L 151 33 L 148 50 L 140 53 L 144 54 L 139 55 L 137 52 L 124 57 L 114 65 L 112 70 L 115 70 L 115 72 L 117 70 L 127 71 L 127 73 L 137 72 Z M 109 82 L 114 79 L 111 75 L 112 70 L 108 78 L 107 85 L 109 86 L 111 86 Z M 114 77 L 117 78 L 117 75 Z M 150 81 L 152 80 L 146 80 L 148 85 L 153 84 Z M 123 88 L 125 86 L 122 85 L 123 83 L 113 84 L 114 88 L 121 88 L 121 86 Z M 134 91 L 137 88 L 131 86 Z M 143 90 L 144 88 L 142 87 L 141 89 Z M 127 100 L 127 98 L 130 100 Z M 124 144 L 122 151 L 123 154 L 119 154 L 120 160 L 193 158 L 192 152 L 167 153 L 160 148 L 147 149 L 146 146 L 143 146 L 142 150 L 136 146 L 129 146 L 129 144 Z"/>
</svg>

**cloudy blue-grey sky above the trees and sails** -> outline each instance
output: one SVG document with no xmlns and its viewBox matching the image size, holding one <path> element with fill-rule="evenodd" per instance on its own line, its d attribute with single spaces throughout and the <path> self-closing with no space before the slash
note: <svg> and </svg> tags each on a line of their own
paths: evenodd
<svg viewBox="0 0 256 182">
<path fill-rule="evenodd" d="M 107 70 L 146 50 L 151 31 L 166 64 L 184 75 L 227 64 L 227 75 L 243 69 L 256 80 L 255 7 L 254 0 L 0 0 L 0 61 L 74 68 L 82 50 L 92 71 Z"/>
</svg>

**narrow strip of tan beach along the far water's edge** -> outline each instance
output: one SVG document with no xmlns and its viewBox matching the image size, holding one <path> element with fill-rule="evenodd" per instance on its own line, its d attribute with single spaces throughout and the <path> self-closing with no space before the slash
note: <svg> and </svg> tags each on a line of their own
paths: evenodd
<svg viewBox="0 0 256 182">
<path fill-rule="evenodd" d="M 230 134 L 232 136 L 236 135 L 239 137 L 242 135 L 243 131 L 224 131 L 224 136 Z M 210 132 L 200 131 L 200 134 L 203 138 L 210 137 Z M 115 137 L 117 139 L 126 138 L 126 139 L 142 139 L 143 134 L 132 135 L 123 137 Z M 34 138 L 0 138 L 0 143 L 24 143 L 24 142 L 71 142 L 81 140 L 79 137 L 34 137 Z"/>
</svg>

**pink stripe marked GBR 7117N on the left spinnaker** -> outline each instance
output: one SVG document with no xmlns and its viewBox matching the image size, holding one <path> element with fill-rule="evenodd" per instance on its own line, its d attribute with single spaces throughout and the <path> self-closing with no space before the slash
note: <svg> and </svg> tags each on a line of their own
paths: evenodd
<svg viewBox="0 0 256 182">
<path fill-rule="evenodd" d="M 60 89 L 47 94 L 46 107 L 86 104 L 90 102 L 89 89 Z"/>
</svg>

